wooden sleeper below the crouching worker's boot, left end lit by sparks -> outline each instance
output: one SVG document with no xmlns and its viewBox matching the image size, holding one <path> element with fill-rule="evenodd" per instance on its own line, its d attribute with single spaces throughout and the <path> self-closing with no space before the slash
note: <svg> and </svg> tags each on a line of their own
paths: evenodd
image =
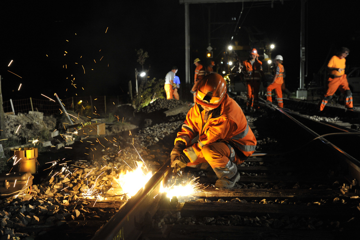
<svg viewBox="0 0 360 240">
<path fill-rule="evenodd" d="M 305 199 L 332 199 L 339 197 L 340 193 L 334 190 L 309 190 L 309 189 L 253 189 L 253 188 L 231 188 L 216 190 L 215 188 L 205 188 L 205 192 L 195 194 L 196 197 L 217 197 L 231 199 L 251 199 L 251 200 L 273 200 L 273 199 L 290 199 L 291 200 L 305 200 Z"/>
</svg>

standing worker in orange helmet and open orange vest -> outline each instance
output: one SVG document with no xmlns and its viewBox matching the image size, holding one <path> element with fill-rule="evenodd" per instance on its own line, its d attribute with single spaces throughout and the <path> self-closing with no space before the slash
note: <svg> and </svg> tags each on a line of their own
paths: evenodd
<svg viewBox="0 0 360 240">
<path fill-rule="evenodd" d="M 258 110 L 259 108 L 259 90 L 261 79 L 264 79 L 264 71 L 262 71 L 262 62 L 257 60 L 257 50 L 252 49 L 250 58 L 243 62 L 242 72 L 246 82 L 247 103 L 246 110 Z"/>
</svg>

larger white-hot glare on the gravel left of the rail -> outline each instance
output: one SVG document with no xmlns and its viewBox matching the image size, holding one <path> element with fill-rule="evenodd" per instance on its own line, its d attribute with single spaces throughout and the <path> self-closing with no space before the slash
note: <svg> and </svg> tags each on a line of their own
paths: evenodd
<svg viewBox="0 0 360 240">
<path fill-rule="evenodd" d="M 152 173 L 147 170 L 142 161 L 136 161 L 136 163 L 138 165 L 136 169 L 120 173 L 118 179 L 114 178 L 122 188 L 120 194 L 127 193 L 130 196 L 134 196 L 152 177 Z"/>
</svg>

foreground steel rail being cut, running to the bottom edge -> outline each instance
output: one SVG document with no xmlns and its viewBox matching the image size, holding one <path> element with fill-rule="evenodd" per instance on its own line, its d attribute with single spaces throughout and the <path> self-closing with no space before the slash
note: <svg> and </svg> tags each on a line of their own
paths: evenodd
<svg viewBox="0 0 360 240">
<path fill-rule="evenodd" d="M 123 207 L 101 227 L 91 240 L 136 240 L 142 233 L 146 213 L 156 213 L 161 185 L 171 177 L 170 159 Z"/>
</svg>

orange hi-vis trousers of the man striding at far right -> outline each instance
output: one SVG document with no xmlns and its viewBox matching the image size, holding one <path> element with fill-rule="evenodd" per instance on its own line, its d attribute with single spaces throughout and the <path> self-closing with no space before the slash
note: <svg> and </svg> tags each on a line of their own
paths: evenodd
<svg viewBox="0 0 360 240">
<path fill-rule="evenodd" d="M 349 84 L 347 82 L 346 74 L 340 77 L 329 77 L 328 79 L 328 90 L 326 94 L 324 94 L 323 101 L 320 104 L 320 111 L 323 111 L 325 105 L 327 105 L 328 101 L 332 99 L 336 90 L 340 90 L 341 93 L 346 95 L 345 98 L 345 107 L 352 108 L 352 93 L 349 88 Z"/>
</svg>

